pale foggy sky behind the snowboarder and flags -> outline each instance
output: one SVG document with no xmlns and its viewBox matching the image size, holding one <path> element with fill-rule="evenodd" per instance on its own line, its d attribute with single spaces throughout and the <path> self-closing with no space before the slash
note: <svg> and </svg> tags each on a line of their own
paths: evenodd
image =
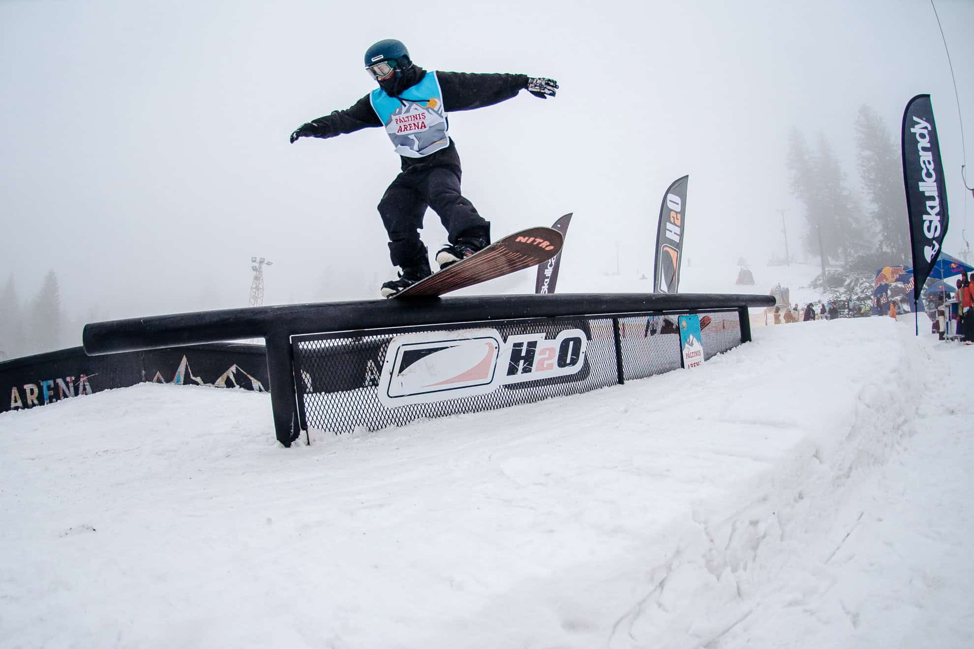
<svg viewBox="0 0 974 649">
<path fill-rule="evenodd" d="M 974 3 L 937 10 L 974 165 Z M 932 96 L 947 173 L 948 252 L 963 246 L 965 210 L 974 219 L 925 0 L 8 1 L 0 283 L 13 272 L 24 299 L 53 269 L 65 306 L 96 305 L 98 319 L 237 307 L 249 258 L 263 255 L 275 262 L 268 304 L 377 297 L 394 277 L 375 209 L 398 171 L 388 137 L 287 137 L 374 88 L 362 53 L 382 38 L 427 69 L 558 80 L 555 98 L 522 92 L 451 113 L 450 129 L 464 193 L 495 236 L 575 212 L 562 291 L 614 271 L 617 244 L 623 273 L 649 274 L 662 192 L 685 173 L 694 265 L 781 256 L 779 209 L 799 250 L 791 129 L 826 134 L 858 192 L 859 106 L 879 112 L 898 147 L 920 93 Z M 431 211 L 422 235 L 433 249 L 445 240 Z"/>
</svg>

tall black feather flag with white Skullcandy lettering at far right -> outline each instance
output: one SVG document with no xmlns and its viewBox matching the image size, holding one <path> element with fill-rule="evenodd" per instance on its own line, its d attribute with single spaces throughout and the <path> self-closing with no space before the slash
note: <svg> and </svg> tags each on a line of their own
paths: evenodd
<svg viewBox="0 0 974 649">
<path fill-rule="evenodd" d="M 940 256 L 948 224 L 947 183 L 930 95 L 910 99 L 903 112 L 903 184 L 907 190 L 917 300 Z"/>
</svg>

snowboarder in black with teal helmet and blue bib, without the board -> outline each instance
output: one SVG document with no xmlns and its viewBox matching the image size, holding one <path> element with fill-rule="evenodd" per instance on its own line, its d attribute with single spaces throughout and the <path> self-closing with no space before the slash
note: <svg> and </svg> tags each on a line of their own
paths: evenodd
<svg viewBox="0 0 974 649">
<path fill-rule="evenodd" d="M 365 69 L 379 88 L 347 110 L 301 125 L 291 134 L 291 143 L 300 137 L 386 129 L 401 157 L 401 172 L 379 202 L 393 266 L 402 269 L 397 280 L 382 285 L 383 297 L 391 297 L 431 275 L 419 235 L 428 207 L 448 233 L 448 243 L 436 252 L 441 269 L 490 244 L 490 223 L 460 193 L 460 156 L 448 133 L 447 113 L 490 106 L 521 90 L 544 99 L 555 95 L 558 84 L 524 74 L 428 72 L 413 63 L 405 45 L 392 39 L 365 51 Z"/>
</svg>

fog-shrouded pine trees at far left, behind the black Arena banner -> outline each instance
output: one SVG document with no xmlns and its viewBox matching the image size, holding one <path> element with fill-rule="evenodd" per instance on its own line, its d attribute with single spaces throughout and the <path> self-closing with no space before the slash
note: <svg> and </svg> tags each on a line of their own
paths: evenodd
<svg viewBox="0 0 974 649">
<path fill-rule="evenodd" d="M 30 300 L 20 300 L 13 275 L 0 291 L 0 361 L 78 345 L 78 327 L 64 313 L 54 271 Z"/>
</svg>

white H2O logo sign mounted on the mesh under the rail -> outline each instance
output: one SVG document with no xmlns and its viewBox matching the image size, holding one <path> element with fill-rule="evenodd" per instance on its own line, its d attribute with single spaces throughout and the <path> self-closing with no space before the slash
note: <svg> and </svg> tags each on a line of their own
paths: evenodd
<svg viewBox="0 0 974 649">
<path fill-rule="evenodd" d="M 588 339 L 566 329 L 548 340 L 497 329 L 405 333 L 389 342 L 379 381 L 386 407 L 485 395 L 502 385 L 570 376 L 581 370 Z"/>
</svg>

